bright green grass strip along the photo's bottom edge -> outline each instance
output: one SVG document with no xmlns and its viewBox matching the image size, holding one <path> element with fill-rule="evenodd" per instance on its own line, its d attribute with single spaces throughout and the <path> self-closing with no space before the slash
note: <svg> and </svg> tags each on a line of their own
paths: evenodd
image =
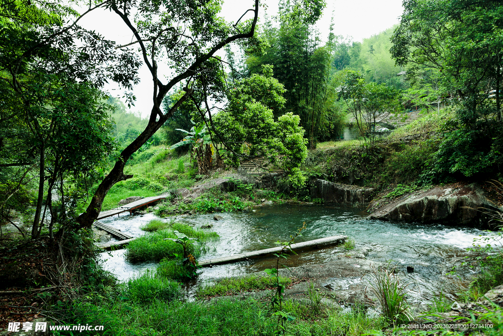
<svg viewBox="0 0 503 336">
<path fill-rule="evenodd" d="M 313 314 L 309 304 L 286 300 L 285 310 L 296 316 L 294 321 L 285 323 L 285 335 L 360 336 L 384 327 L 382 319 L 366 316 L 365 309 L 358 306 L 349 311 L 325 308 Z M 155 300 L 148 305 L 119 300 L 98 304 L 74 302 L 68 311 L 71 316 L 65 320 L 66 324 L 103 324 L 114 335 L 258 336 L 275 335 L 280 330 L 274 311 L 267 303 L 253 298 L 209 303 Z"/>
</svg>

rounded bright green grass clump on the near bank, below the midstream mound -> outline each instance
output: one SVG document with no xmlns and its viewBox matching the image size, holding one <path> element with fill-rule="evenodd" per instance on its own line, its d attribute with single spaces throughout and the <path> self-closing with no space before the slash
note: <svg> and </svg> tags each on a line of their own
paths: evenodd
<svg viewBox="0 0 503 336">
<path fill-rule="evenodd" d="M 183 296 L 177 282 L 157 277 L 151 272 L 129 279 L 125 287 L 128 298 L 140 304 L 148 304 L 155 300 L 171 301 Z"/>
</svg>

